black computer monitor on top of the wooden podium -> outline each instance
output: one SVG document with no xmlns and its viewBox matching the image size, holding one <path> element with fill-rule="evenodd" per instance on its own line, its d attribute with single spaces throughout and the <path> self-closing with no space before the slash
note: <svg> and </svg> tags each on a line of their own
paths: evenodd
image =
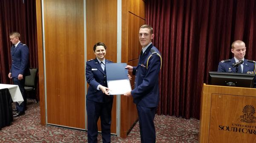
<svg viewBox="0 0 256 143">
<path fill-rule="evenodd" d="M 255 74 L 246 73 L 225 73 L 210 71 L 208 77 L 208 84 L 210 85 L 253 88 L 254 82 Z"/>
</svg>

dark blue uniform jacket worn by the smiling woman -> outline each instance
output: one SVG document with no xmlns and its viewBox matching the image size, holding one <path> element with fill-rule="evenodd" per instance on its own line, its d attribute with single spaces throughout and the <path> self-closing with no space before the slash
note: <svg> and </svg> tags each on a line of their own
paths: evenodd
<svg viewBox="0 0 256 143">
<path fill-rule="evenodd" d="M 113 63 L 105 59 L 106 63 Z M 106 71 L 106 70 L 105 70 Z M 108 102 L 113 99 L 113 95 L 105 95 L 102 93 L 102 90 L 97 90 L 99 84 L 102 86 L 108 87 L 107 84 L 107 75 L 99 63 L 99 61 L 95 58 L 86 62 L 86 80 L 90 85 L 88 88 L 88 92 L 86 98 L 95 101 L 95 102 Z"/>
</svg>

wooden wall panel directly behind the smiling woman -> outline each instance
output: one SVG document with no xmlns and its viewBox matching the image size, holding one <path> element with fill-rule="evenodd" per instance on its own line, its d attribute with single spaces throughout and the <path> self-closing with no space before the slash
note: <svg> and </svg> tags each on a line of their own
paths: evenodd
<svg viewBox="0 0 256 143">
<path fill-rule="evenodd" d="M 86 39 L 87 60 L 95 59 L 93 46 L 103 42 L 107 46 L 105 59 L 117 61 L 117 0 L 86 0 Z M 111 133 L 116 134 L 116 97 L 111 118 Z"/>
</svg>

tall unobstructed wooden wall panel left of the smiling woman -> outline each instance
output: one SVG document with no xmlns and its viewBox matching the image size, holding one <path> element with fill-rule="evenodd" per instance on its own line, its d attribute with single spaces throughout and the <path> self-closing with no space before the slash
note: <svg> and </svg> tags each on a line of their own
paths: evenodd
<svg viewBox="0 0 256 143">
<path fill-rule="evenodd" d="M 44 0 L 47 123 L 85 129 L 84 2 Z"/>
</svg>

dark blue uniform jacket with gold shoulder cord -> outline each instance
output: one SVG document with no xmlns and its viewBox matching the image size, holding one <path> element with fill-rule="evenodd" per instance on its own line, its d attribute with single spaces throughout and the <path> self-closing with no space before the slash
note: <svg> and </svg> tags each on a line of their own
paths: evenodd
<svg viewBox="0 0 256 143">
<path fill-rule="evenodd" d="M 140 57 L 137 67 L 133 67 L 133 75 L 135 76 L 135 87 L 131 91 L 134 103 L 142 107 L 157 107 L 159 102 L 158 74 L 161 67 L 161 59 L 157 54 L 151 55 L 151 48 L 160 54 L 153 44 L 145 50 Z"/>
</svg>

